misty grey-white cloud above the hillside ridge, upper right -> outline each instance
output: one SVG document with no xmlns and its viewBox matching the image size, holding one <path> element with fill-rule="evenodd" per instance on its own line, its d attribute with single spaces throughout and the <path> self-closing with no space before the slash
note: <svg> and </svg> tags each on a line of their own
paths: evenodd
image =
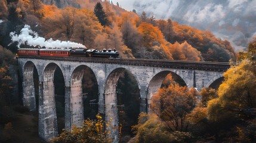
<svg viewBox="0 0 256 143">
<path fill-rule="evenodd" d="M 256 0 L 114 0 L 128 11 L 137 14 L 145 11 L 150 17 L 171 18 L 203 30 L 211 30 L 215 36 L 228 39 L 236 51 L 245 49 L 256 36 Z"/>
</svg>

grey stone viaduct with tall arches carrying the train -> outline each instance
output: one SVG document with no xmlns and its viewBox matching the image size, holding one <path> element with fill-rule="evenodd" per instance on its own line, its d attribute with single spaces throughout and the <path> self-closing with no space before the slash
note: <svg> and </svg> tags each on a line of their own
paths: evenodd
<svg viewBox="0 0 256 143">
<path fill-rule="evenodd" d="M 167 74 L 188 88 L 215 86 L 223 79 L 223 72 L 229 63 L 207 63 L 195 61 L 111 59 L 81 57 L 18 57 L 19 73 L 23 85 L 23 104 L 36 110 L 33 72 L 38 71 L 39 79 L 39 136 L 45 140 L 54 138 L 57 132 L 57 114 L 54 99 L 54 71 L 61 69 L 65 84 L 65 128 L 80 126 L 84 121 L 82 77 L 89 67 L 98 84 L 98 112 L 106 121 L 112 118 L 110 135 L 118 136 L 118 108 L 116 85 L 124 70 L 130 71 L 140 89 L 140 111 L 148 112 L 152 95 L 161 87 Z M 116 139 L 114 139 L 115 141 Z"/>
</svg>

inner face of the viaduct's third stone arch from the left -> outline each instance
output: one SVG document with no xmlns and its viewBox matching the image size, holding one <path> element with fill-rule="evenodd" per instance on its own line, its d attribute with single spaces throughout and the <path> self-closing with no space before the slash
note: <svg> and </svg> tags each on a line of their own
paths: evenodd
<svg viewBox="0 0 256 143">
<path fill-rule="evenodd" d="M 84 121 L 84 103 L 82 101 L 82 79 L 86 69 L 92 69 L 85 65 L 80 65 L 73 70 L 70 79 L 71 117 L 72 125 L 81 126 Z M 94 72 L 92 71 L 94 74 Z M 94 74 L 95 76 L 95 74 Z M 95 77 L 96 78 L 96 77 Z M 97 80 L 97 78 L 96 78 Z M 97 81 L 98 82 L 98 81 Z"/>
</svg>

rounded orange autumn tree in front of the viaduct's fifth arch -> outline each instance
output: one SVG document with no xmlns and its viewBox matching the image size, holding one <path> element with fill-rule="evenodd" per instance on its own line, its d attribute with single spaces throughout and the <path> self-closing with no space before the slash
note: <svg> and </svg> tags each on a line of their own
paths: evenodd
<svg viewBox="0 0 256 143">
<path fill-rule="evenodd" d="M 187 114 L 195 107 L 195 97 L 186 87 L 177 84 L 161 88 L 153 95 L 152 111 L 165 123 L 170 132 L 186 131 Z"/>
</svg>

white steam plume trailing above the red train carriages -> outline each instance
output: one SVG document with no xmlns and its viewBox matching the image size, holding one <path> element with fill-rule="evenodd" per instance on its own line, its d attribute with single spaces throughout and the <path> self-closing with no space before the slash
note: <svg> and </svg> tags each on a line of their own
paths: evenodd
<svg viewBox="0 0 256 143">
<path fill-rule="evenodd" d="M 38 33 L 33 32 L 29 25 L 25 25 L 23 29 L 20 30 L 20 35 L 15 32 L 10 33 L 11 43 L 18 42 L 18 48 L 21 44 L 26 44 L 29 46 L 45 46 L 45 48 L 86 48 L 81 43 L 75 43 L 70 41 L 54 41 L 52 38 L 45 41 L 45 38 L 38 36 Z"/>
</svg>

